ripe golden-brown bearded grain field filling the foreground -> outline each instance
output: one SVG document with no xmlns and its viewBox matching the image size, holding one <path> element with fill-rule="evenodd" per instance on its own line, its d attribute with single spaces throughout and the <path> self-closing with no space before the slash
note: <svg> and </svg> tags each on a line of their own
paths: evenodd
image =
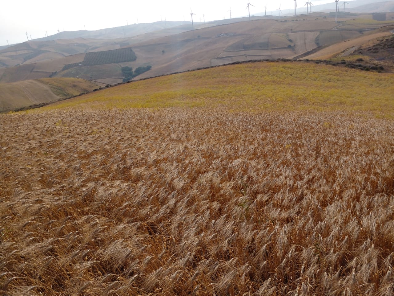
<svg viewBox="0 0 394 296">
<path fill-rule="evenodd" d="M 0 115 L 0 294 L 394 293 L 394 122 Z"/>
</svg>

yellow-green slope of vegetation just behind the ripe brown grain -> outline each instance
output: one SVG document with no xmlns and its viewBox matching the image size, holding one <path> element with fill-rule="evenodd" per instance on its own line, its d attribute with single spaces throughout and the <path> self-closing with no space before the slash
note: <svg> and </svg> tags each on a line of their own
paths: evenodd
<svg viewBox="0 0 394 296">
<path fill-rule="evenodd" d="M 392 73 L 327 65 L 260 62 L 132 82 L 48 106 L 217 107 L 233 111 L 346 110 L 393 117 Z"/>
</svg>

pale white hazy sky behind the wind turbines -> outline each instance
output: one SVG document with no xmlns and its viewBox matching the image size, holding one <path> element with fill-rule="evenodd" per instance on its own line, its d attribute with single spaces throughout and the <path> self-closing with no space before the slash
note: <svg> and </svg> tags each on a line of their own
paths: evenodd
<svg viewBox="0 0 394 296">
<path fill-rule="evenodd" d="M 349 0 L 348 0 L 349 1 Z M 297 1 L 303 7 L 307 0 Z M 314 5 L 334 2 L 334 0 L 314 0 Z M 341 0 L 342 2 L 342 0 Z M 134 24 L 137 22 L 190 20 L 190 8 L 196 15 L 194 21 L 214 21 L 217 19 L 242 17 L 247 15 L 247 0 L 167 0 L 167 1 L 119 1 L 119 0 L 2 0 L 0 2 L 0 45 L 27 41 L 25 32 L 33 39 L 54 35 L 60 31 L 98 30 Z M 251 0 L 253 13 L 273 11 L 281 4 L 283 13 L 294 9 L 294 0 Z M 335 7 L 335 4 L 333 4 Z"/>
</svg>

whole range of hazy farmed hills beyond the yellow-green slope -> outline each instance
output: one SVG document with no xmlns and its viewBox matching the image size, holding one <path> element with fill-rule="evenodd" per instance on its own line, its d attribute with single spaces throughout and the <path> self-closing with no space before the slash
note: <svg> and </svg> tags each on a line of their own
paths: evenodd
<svg viewBox="0 0 394 296">
<path fill-rule="evenodd" d="M 371 13 L 340 13 L 339 23 L 333 13 L 252 19 L 196 24 L 195 30 L 184 24 L 111 40 L 29 41 L 0 51 L 0 82 L 74 77 L 116 84 L 123 81 L 121 68 L 125 66 L 152 66 L 136 80 L 245 60 L 329 57 L 354 48 L 353 43 L 369 42 L 372 31 L 394 23 L 391 19 L 374 21 Z M 97 60 L 95 64 L 85 61 L 93 52 L 104 55 L 130 48 L 136 58 Z"/>
</svg>

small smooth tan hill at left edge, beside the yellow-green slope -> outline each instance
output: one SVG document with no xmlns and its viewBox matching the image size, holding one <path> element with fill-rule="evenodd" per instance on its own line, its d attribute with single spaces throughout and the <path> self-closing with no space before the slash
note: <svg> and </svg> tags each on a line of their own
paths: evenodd
<svg viewBox="0 0 394 296">
<path fill-rule="evenodd" d="M 103 86 L 72 78 L 44 78 L 14 83 L 0 83 L 0 112 L 42 105 L 91 92 Z"/>
</svg>

